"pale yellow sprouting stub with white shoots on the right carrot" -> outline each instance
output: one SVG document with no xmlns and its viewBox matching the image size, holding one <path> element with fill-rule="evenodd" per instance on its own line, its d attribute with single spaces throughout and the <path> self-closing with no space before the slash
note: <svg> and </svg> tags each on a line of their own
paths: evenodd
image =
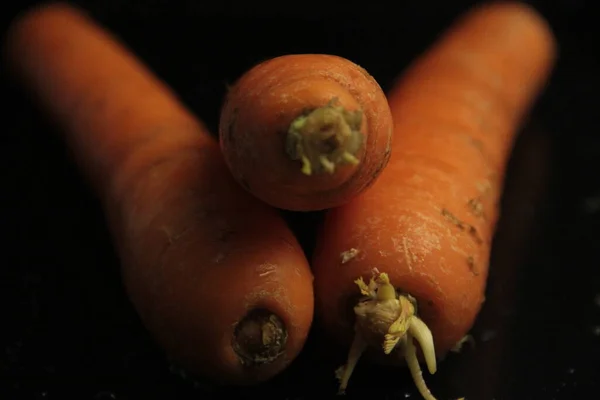
<svg viewBox="0 0 600 400">
<path fill-rule="evenodd" d="M 419 344 L 427 369 L 434 374 L 437 361 L 433 336 L 427 325 L 416 315 L 416 300 L 410 295 L 398 294 L 388 275 L 377 270 L 373 271 L 369 284 L 362 277 L 355 283 L 364 297 L 354 307 L 355 334 L 346 365 L 336 371 L 340 380 L 339 392 L 345 392 L 362 353 L 368 347 L 375 347 L 386 355 L 393 351 L 401 354 L 419 393 L 426 400 L 435 400 L 423 379 L 414 344 L 414 341 Z"/>
</svg>

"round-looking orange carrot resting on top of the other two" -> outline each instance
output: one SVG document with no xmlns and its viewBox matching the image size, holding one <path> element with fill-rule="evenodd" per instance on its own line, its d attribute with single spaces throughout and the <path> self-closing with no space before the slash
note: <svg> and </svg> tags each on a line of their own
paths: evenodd
<svg viewBox="0 0 600 400">
<path fill-rule="evenodd" d="M 312 211 L 339 206 L 386 166 L 385 94 L 353 62 L 325 54 L 264 61 L 229 91 L 219 124 L 235 179 L 264 202 Z"/>
</svg>

